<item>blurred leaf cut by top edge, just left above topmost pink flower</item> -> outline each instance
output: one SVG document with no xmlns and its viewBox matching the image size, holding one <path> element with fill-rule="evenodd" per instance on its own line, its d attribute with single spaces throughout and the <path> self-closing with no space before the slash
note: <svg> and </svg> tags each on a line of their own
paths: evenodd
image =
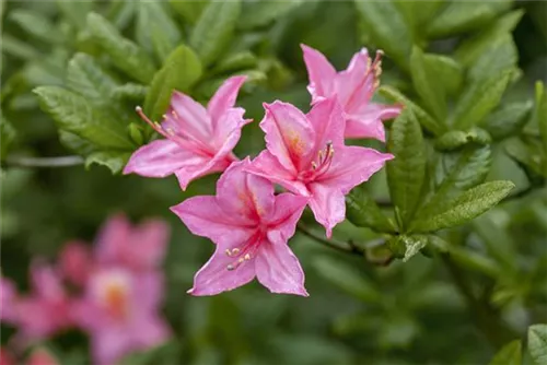
<svg viewBox="0 0 547 365">
<path fill-rule="evenodd" d="M 268 25 L 289 12 L 295 11 L 295 8 L 303 3 L 304 0 L 243 2 L 238 27 L 242 30 L 252 30 Z"/>
</svg>

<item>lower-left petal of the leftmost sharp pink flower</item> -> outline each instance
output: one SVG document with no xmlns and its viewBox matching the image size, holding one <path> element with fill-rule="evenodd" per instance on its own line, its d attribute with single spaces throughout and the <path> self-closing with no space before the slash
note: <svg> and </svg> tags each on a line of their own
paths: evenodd
<svg viewBox="0 0 547 365">
<path fill-rule="evenodd" d="M 186 166 L 199 166 L 207 157 L 181 148 L 170 140 L 155 140 L 137 150 L 124 174 L 137 174 L 147 177 L 165 177 Z"/>
</svg>

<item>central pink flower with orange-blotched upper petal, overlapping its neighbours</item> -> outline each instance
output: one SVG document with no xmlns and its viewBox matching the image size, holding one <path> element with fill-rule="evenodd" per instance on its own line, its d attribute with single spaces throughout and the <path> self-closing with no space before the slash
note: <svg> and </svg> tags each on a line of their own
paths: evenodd
<svg viewBox="0 0 547 365">
<path fill-rule="evenodd" d="M 309 197 L 315 219 L 330 237 L 346 217 L 344 196 L 366 181 L 393 155 L 344 144 L 344 115 L 335 98 L 304 115 L 291 104 L 265 104 L 260 128 L 266 149 L 246 170 Z"/>
</svg>

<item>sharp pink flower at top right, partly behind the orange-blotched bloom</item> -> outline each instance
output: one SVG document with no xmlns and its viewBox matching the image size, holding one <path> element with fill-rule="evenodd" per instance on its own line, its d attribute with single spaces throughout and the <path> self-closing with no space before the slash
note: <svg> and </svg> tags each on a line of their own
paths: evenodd
<svg viewBox="0 0 547 365">
<path fill-rule="evenodd" d="M 357 52 L 345 71 L 336 72 L 326 57 L 316 49 L 302 45 L 304 62 L 310 75 L 307 90 L 312 104 L 326 97 L 336 97 L 342 105 L 346 138 L 375 138 L 385 141 L 382 120 L 399 115 L 400 106 L 371 103 L 382 73 L 382 51 L 371 60 L 365 48 Z"/>
</svg>

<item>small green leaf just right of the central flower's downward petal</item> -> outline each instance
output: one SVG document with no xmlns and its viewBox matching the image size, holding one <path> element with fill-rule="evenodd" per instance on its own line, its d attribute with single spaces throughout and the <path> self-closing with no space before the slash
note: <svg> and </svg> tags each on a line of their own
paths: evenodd
<svg viewBox="0 0 547 365">
<path fill-rule="evenodd" d="M 346 196 L 346 216 L 358 227 L 369 227 L 376 232 L 395 232 L 393 222 L 382 213 L 362 186 Z"/>
</svg>

